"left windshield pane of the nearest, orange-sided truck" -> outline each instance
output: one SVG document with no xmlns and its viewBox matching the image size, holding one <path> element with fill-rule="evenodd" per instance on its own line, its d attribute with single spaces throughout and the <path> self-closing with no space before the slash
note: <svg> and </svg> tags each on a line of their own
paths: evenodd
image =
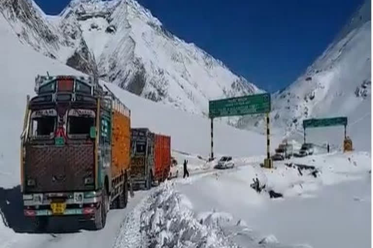
<svg viewBox="0 0 373 248">
<path fill-rule="evenodd" d="M 52 139 L 56 128 L 57 112 L 54 109 L 35 110 L 31 114 L 29 137 Z"/>
</svg>

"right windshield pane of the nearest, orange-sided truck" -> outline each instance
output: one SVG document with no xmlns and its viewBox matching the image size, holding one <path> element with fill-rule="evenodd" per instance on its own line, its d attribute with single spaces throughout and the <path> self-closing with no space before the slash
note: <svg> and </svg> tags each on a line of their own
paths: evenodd
<svg viewBox="0 0 373 248">
<path fill-rule="evenodd" d="M 68 136 L 88 136 L 90 128 L 95 125 L 95 112 L 90 109 L 70 109 L 68 111 Z"/>
</svg>

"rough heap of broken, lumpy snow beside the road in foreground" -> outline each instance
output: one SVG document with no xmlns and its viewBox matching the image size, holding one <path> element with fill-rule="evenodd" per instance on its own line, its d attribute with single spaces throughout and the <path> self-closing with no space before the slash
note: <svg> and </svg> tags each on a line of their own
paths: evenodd
<svg viewBox="0 0 373 248">
<path fill-rule="evenodd" d="M 185 204 L 185 199 L 170 183 L 154 189 L 124 220 L 114 248 L 135 244 L 153 248 L 235 247 L 216 223 L 196 219 L 189 204 Z"/>
</svg>

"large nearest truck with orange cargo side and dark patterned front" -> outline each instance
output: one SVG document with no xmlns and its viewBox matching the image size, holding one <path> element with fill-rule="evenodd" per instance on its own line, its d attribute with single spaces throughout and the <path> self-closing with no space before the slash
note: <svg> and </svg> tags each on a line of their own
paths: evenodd
<svg viewBox="0 0 373 248">
<path fill-rule="evenodd" d="M 38 75 L 35 93 L 21 134 L 24 215 L 35 230 L 68 216 L 104 228 L 131 188 L 130 109 L 93 77 Z"/>
</svg>

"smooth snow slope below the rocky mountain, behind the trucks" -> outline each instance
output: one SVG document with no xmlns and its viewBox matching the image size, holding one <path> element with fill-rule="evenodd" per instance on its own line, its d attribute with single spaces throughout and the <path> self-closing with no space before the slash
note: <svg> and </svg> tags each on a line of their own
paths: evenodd
<svg viewBox="0 0 373 248">
<path fill-rule="evenodd" d="M 19 184 L 19 145 L 26 107 L 26 94 L 34 95 L 34 79 L 37 74 L 51 75 L 83 73 L 19 43 L 9 23 L 0 15 L 0 187 Z M 131 126 L 149 127 L 153 132 L 171 136 L 171 147 L 178 151 L 200 154 L 210 152 L 209 120 L 161 103 L 154 103 L 120 89 L 114 84 L 108 87 L 131 109 Z M 265 154 L 265 137 L 238 130 L 226 124 L 214 126 L 216 154 L 254 155 Z M 262 145 L 247 140 L 262 140 Z M 231 140 L 231 143 L 227 143 Z M 233 145 L 232 145 L 233 144 Z"/>
</svg>

